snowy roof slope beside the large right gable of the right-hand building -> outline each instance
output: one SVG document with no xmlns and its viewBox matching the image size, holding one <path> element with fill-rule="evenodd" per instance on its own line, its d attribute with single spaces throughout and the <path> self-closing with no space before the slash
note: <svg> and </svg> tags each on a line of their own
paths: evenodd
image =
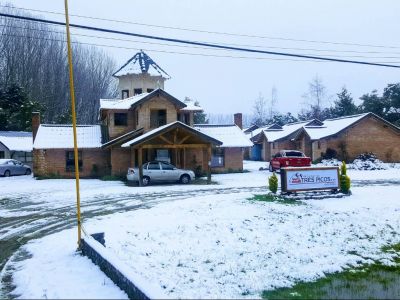
<svg viewBox="0 0 400 300">
<path fill-rule="evenodd" d="M 307 132 L 307 134 L 310 136 L 312 140 L 318 140 L 320 138 L 327 137 L 336 134 L 339 131 L 342 131 L 343 129 L 349 127 L 353 123 L 361 120 L 368 114 L 369 113 L 335 118 L 335 119 L 327 119 L 323 122 L 323 125 L 321 127 L 304 126 L 304 130 Z"/>
</svg>

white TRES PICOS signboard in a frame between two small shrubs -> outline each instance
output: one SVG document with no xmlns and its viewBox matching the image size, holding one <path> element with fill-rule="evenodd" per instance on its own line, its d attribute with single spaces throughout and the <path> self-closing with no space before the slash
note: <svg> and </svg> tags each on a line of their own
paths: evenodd
<svg viewBox="0 0 400 300">
<path fill-rule="evenodd" d="M 282 192 L 339 189 L 339 168 L 282 168 Z"/>
</svg>

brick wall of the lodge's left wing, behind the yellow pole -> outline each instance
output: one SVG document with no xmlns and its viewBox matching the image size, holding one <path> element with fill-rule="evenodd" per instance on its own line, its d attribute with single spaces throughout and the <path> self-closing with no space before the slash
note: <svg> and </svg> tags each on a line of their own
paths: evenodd
<svg viewBox="0 0 400 300">
<path fill-rule="evenodd" d="M 33 172 L 35 176 L 62 176 L 75 178 L 74 171 L 66 170 L 66 152 L 73 149 L 34 149 Z M 110 172 L 109 151 L 102 149 L 82 149 L 82 170 L 80 177 L 99 177 Z M 95 174 L 94 165 L 97 166 Z"/>
</svg>

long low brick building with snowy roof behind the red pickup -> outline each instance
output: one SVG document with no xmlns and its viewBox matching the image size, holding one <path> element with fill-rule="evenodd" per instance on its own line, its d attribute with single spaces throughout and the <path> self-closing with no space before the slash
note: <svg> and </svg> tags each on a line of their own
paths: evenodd
<svg viewBox="0 0 400 300">
<path fill-rule="evenodd" d="M 315 161 L 332 149 L 348 161 L 365 152 L 384 162 L 400 161 L 400 128 L 373 113 L 272 124 L 245 133 L 254 143 L 250 153 L 255 160 L 269 161 L 280 150 L 296 149 Z"/>
</svg>

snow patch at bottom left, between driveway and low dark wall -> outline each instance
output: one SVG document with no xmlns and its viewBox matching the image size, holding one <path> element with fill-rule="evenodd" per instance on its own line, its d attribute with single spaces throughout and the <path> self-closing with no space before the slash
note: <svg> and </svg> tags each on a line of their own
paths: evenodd
<svg viewBox="0 0 400 300">
<path fill-rule="evenodd" d="M 25 248 L 32 258 L 18 263 L 14 294 L 22 299 L 126 299 L 87 257 L 76 252 L 76 229 L 49 235 Z"/>
</svg>

